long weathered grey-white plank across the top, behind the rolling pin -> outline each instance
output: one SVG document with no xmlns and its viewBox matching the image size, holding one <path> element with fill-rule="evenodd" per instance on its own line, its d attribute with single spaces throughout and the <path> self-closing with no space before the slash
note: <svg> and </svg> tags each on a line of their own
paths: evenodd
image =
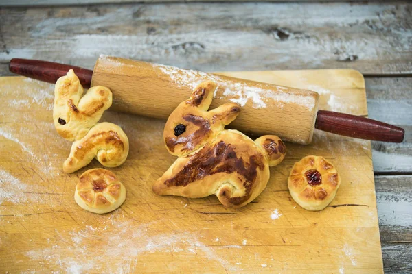
<svg viewBox="0 0 412 274">
<path fill-rule="evenodd" d="M 104 53 L 203 71 L 411 73 L 411 7 L 158 3 L 3 8 L 0 62 L 37 58 L 91 68 Z"/>
</svg>

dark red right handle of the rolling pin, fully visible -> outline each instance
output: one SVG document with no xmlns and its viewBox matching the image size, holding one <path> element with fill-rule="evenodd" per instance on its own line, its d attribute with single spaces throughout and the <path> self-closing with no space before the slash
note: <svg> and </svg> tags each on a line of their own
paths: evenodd
<svg viewBox="0 0 412 274">
<path fill-rule="evenodd" d="M 314 127 L 343 136 L 382 142 L 402 142 L 405 131 L 400 127 L 361 116 L 319 110 Z"/>
</svg>

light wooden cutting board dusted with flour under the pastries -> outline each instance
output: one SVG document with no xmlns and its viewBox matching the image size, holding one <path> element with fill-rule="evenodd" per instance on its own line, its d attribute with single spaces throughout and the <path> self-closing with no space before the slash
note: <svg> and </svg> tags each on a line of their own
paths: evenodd
<svg viewBox="0 0 412 274">
<path fill-rule="evenodd" d="M 223 73 L 222 73 L 223 74 Z M 225 73 L 320 93 L 320 109 L 367 115 L 365 83 L 353 70 Z M 78 177 L 62 163 L 71 142 L 52 123 L 53 85 L 0 78 L 0 271 L 17 273 L 382 273 L 369 141 L 315 132 L 312 145 L 286 143 L 262 194 L 244 208 L 216 197 L 159 197 L 151 186 L 174 162 L 164 121 L 107 112 L 130 140 L 114 171 L 126 202 L 98 215 L 73 199 Z M 115 96 L 115 95 L 114 95 Z M 322 155 L 341 187 L 328 208 L 309 212 L 290 198 L 294 162 Z"/>
</svg>

